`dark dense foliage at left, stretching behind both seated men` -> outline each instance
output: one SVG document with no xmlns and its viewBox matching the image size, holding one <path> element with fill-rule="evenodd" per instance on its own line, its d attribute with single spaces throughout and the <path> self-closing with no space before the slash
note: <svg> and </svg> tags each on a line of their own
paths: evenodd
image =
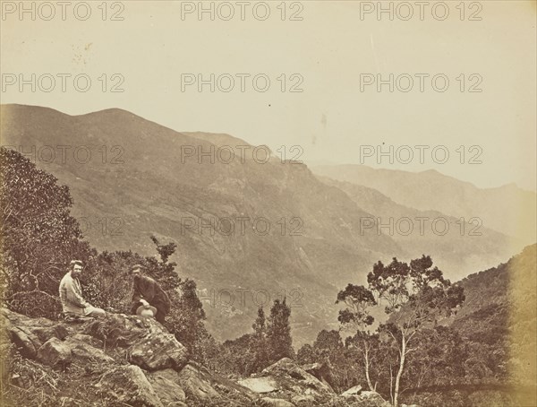
<svg viewBox="0 0 537 407">
<path fill-rule="evenodd" d="M 132 251 L 101 252 L 83 240 L 71 216 L 67 186 L 40 170 L 19 152 L 0 148 L 0 273 L 2 302 L 28 316 L 57 318 L 61 305 L 58 284 L 76 258 L 84 264 L 81 283 L 90 304 L 114 312 L 130 312 L 133 264 L 143 264 L 172 301 L 166 327 L 194 354 L 212 338 L 195 281 L 182 280 L 175 263 L 175 243 L 161 244 L 151 236 L 158 257 Z"/>
</svg>

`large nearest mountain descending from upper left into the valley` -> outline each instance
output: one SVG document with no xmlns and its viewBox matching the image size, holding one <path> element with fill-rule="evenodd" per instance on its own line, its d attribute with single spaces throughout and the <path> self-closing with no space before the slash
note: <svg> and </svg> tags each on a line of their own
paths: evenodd
<svg viewBox="0 0 537 407">
<path fill-rule="evenodd" d="M 177 133 L 120 109 L 72 117 L 7 105 L 1 113 L 2 143 L 24 152 L 35 146 L 38 167 L 70 187 L 73 215 L 91 244 L 155 255 L 149 235 L 177 243 L 171 260 L 198 282 L 218 339 L 250 331 L 259 305 L 287 296 L 294 338 L 311 340 L 337 323 L 333 302 L 343 284 L 402 253 L 388 236 L 361 234 L 360 219 L 371 215 L 305 165 L 262 163 L 263 152 L 257 162 L 251 152 L 240 160 L 234 144 L 243 142 L 226 134 L 215 145 L 212 134 Z M 227 164 L 224 156 L 181 155 L 216 150 L 223 137 L 236 153 Z"/>
</svg>

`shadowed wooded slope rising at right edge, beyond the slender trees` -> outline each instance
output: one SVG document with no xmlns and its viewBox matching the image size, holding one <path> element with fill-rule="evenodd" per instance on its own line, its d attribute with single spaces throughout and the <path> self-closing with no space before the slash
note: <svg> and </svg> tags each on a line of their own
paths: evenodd
<svg viewBox="0 0 537 407">
<path fill-rule="evenodd" d="M 488 347 L 490 375 L 535 385 L 528 380 L 537 374 L 537 245 L 460 284 L 465 304 L 444 324 L 456 328 L 470 344 Z"/>
</svg>

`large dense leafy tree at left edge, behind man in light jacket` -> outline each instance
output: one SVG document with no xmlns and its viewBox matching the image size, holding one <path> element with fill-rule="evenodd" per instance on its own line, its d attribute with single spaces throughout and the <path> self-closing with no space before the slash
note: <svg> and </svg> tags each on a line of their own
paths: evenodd
<svg viewBox="0 0 537 407">
<path fill-rule="evenodd" d="M 0 207 L 3 300 L 23 314 L 57 316 L 66 264 L 97 255 L 81 241 L 69 188 L 19 152 L 1 147 Z"/>
</svg>

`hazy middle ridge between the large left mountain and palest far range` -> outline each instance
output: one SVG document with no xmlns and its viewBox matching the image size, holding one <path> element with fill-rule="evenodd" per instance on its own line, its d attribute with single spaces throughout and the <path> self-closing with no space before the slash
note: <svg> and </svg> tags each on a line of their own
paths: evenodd
<svg viewBox="0 0 537 407">
<path fill-rule="evenodd" d="M 344 191 L 365 212 L 374 214 L 377 224 L 385 225 L 377 229 L 378 232 L 393 238 L 409 256 L 433 254 L 435 264 L 452 280 L 499 264 L 513 253 L 507 236 L 486 228 L 478 221 L 462 222 L 442 212 L 422 211 L 397 204 L 368 186 L 319 178 L 325 184 Z M 390 224 L 391 229 L 388 227 Z"/>
</svg>

